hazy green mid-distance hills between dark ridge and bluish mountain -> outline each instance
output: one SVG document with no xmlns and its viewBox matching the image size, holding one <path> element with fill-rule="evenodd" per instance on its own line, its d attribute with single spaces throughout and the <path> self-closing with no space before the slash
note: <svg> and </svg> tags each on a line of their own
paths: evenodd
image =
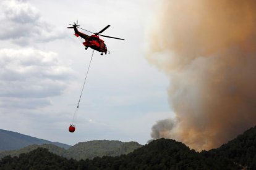
<svg viewBox="0 0 256 170">
<path fill-rule="evenodd" d="M 7 155 L 18 156 L 21 153 L 31 152 L 36 148 L 46 148 L 49 152 L 65 158 L 86 160 L 95 158 L 96 156 L 118 156 L 127 154 L 140 147 L 142 147 L 142 145 L 138 142 L 121 142 L 118 140 L 93 140 L 89 142 L 80 142 L 67 150 L 53 144 L 29 145 L 20 150 L 2 151 L 0 152 L 0 158 Z"/>
</svg>

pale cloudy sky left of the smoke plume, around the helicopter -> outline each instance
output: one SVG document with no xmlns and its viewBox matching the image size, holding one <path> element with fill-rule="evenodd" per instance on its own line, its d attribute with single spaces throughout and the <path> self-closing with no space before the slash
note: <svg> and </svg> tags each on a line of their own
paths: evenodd
<svg viewBox="0 0 256 170">
<path fill-rule="evenodd" d="M 146 144 L 153 124 L 171 118 L 169 79 L 145 59 L 155 0 L 0 2 L 0 129 L 74 145 L 89 140 Z M 67 29 L 93 32 L 109 55 L 93 55 L 76 131 L 68 132 L 92 49 Z M 82 31 L 82 30 L 80 30 Z M 84 31 L 83 31 L 84 32 Z M 85 33 L 85 32 L 84 32 Z"/>
</svg>

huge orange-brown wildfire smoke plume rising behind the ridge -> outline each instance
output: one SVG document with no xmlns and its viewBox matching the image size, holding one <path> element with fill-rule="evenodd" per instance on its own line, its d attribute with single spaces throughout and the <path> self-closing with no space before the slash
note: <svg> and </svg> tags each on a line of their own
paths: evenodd
<svg viewBox="0 0 256 170">
<path fill-rule="evenodd" d="M 153 139 L 208 150 L 256 125 L 256 1 L 163 0 L 152 23 L 147 59 L 169 76 L 176 114 Z"/>
</svg>

